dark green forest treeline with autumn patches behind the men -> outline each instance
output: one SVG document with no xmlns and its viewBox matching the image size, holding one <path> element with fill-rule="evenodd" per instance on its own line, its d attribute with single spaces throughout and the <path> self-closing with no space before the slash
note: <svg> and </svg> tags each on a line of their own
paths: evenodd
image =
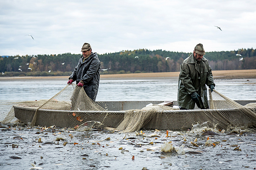
<svg viewBox="0 0 256 170">
<path fill-rule="evenodd" d="M 98 55 L 101 74 L 174 72 L 191 53 L 139 49 Z M 237 55 L 240 54 L 240 55 Z M 1 76 L 70 75 L 81 54 L 1 56 Z M 256 50 L 206 52 L 212 70 L 256 69 Z"/>
</svg>

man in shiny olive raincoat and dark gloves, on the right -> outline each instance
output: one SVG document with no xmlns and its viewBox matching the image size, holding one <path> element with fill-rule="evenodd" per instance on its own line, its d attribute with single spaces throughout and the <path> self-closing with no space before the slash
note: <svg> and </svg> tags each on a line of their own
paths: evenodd
<svg viewBox="0 0 256 170">
<path fill-rule="evenodd" d="M 215 84 L 212 69 L 205 54 L 203 45 L 196 45 L 194 52 L 187 57 L 180 67 L 178 85 L 178 105 L 180 109 L 208 109 L 207 86 L 213 91 Z"/>
</svg>

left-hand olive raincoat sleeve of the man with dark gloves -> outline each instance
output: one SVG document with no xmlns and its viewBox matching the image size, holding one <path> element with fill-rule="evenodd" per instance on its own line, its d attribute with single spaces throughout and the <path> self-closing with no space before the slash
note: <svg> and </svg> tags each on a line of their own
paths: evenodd
<svg viewBox="0 0 256 170">
<path fill-rule="evenodd" d="M 189 70 L 187 64 L 183 62 L 181 64 L 180 70 L 181 70 L 180 71 L 181 83 L 184 85 L 188 94 L 192 94 L 194 91 L 196 91 L 196 89 L 193 86 L 192 80 L 190 78 L 190 74 L 189 74 L 190 70 Z"/>
</svg>

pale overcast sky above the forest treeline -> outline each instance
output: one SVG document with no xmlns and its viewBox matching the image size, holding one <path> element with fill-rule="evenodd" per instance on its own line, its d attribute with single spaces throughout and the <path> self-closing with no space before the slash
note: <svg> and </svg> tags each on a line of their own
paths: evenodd
<svg viewBox="0 0 256 170">
<path fill-rule="evenodd" d="M 0 15 L 1 56 L 256 48 L 254 0 L 0 0 Z"/>
</svg>

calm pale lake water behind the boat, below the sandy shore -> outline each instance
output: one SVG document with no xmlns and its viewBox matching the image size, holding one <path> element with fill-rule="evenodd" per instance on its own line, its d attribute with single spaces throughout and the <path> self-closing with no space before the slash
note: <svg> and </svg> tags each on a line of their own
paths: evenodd
<svg viewBox="0 0 256 170">
<path fill-rule="evenodd" d="M 96 101 L 176 101 L 177 84 L 177 78 L 101 79 Z M 256 79 L 218 79 L 215 84 L 232 100 L 256 100 Z M 50 99 L 66 85 L 66 79 L 1 80 L 0 100 Z"/>
</svg>

